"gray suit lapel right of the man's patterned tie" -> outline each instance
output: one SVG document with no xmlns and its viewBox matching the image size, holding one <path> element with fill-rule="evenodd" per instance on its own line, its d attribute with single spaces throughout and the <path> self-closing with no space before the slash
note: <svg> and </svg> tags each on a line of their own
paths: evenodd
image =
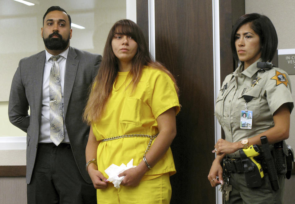
<svg viewBox="0 0 295 204">
<path fill-rule="evenodd" d="M 69 47 L 69 53 L 65 66 L 65 82 L 64 82 L 64 115 L 67 113 L 69 100 L 73 90 L 74 81 L 77 74 L 79 60 L 76 60 L 77 53 L 72 47 Z"/>
</svg>

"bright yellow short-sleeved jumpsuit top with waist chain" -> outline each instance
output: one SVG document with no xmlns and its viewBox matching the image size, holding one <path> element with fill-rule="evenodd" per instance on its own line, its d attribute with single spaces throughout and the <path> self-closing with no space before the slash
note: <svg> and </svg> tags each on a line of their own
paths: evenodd
<svg viewBox="0 0 295 204">
<path fill-rule="evenodd" d="M 175 107 L 180 110 L 178 96 L 171 78 L 163 71 L 144 67 L 136 88 L 129 85 L 129 72 L 118 72 L 109 96 L 104 114 L 92 124 L 97 141 L 127 134 L 155 135 L 159 133 L 157 117 Z M 128 86 L 129 85 L 129 86 Z M 104 170 L 111 164 L 127 164 L 132 158 L 138 165 L 150 139 L 146 137 L 120 138 L 100 142 L 97 148 L 98 170 L 106 177 Z M 171 148 L 159 162 L 146 172 L 142 180 L 153 179 L 164 173 L 175 174 Z"/>
</svg>

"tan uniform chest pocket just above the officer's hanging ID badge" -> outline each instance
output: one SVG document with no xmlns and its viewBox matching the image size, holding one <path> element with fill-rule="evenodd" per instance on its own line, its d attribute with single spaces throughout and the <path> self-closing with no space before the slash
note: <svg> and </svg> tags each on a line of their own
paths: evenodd
<svg viewBox="0 0 295 204">
<path fill-rule="evenodd" d="M 244 88 L 246 88 L 246 91 L 244 94 L 242 94 Z M 245 103 L 246 100 L 244 99 L 244 95 L 251 96 L 252 99 L 247 102 L 248 110 L 253 111 L 253 119 L 255 119 L 256 116 L 260 115 L 260 93 L 261 93 L 262 87 L 258 84 L 255 85 L 253 88 L 245 86 L 240 90 L 238 100 L 240 103 L 241 110 L 245 110 Z"/>
</svg>

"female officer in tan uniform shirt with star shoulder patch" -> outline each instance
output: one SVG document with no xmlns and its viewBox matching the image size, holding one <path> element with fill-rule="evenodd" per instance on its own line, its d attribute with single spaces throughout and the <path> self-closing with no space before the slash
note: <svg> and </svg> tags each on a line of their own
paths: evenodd
<svg viewBox="0 0 295 204">
<path fill-rule="evenodd" d="M 217 155 L 208 175 L 212 187 L 225 183 L 220 164 L 224 157 L 238 162 L 239 150 L 261 145 L 264 135 L 270 144 L 287 139 L 293 109 L 287 73 L 275 67 L 257 68 L 257 62 L 271 62 L 277 49 L 277 33 L 268 17 L 258 13 L 240 17 L 232 30 L 231 48 L 240 66 L 226 76 L 216 101 L 215 116 L 225 140 L 219 139 L 212 151 Z M 242 126 L 242 111 L 252 112 L 248 119 L 252 125 Z M 281 203 L 283 192 L 272 190 L 267 174 L 257 188 L 246 186 L 244 173 L 231 172 L 228 177 L 232 191 L 227 203 Z M 283 187 L 284 176 L 279 176 L 279 183 Z"/>
</svg>

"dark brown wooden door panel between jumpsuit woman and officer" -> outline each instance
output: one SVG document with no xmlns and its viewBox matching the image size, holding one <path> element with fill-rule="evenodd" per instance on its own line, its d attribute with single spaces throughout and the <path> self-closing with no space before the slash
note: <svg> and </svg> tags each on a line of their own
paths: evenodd
<svg viewBox="0 0 295 204">
<path fill-rule="evenodd" d="M 171 203 L 215 203 L 207 175 L 214 159 L 212 1 L 155 1 L 155 46 L 176 77 L 181 111 L 171 148 L 177 173 Z"/>
</svg>

